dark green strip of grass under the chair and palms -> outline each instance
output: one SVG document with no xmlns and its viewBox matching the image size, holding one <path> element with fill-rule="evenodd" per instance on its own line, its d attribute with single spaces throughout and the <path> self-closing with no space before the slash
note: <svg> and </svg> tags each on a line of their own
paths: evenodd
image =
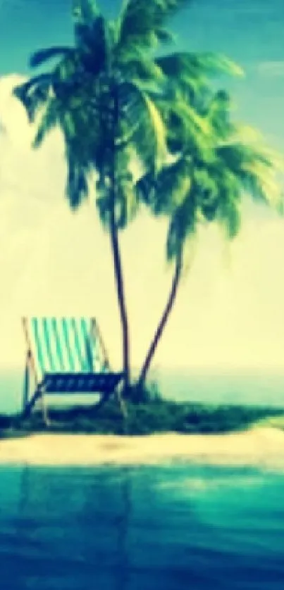
<svg viewBox="0 0 284 590">
<path fill-rule="evenodd" d="M 178 403 L 149 391 L 141 403 L 126 402 L 127 418 L 123 417 L 116 398 L 104 406 L 49 410 L 47 427 L 40 410 L 30 418 L 0 416 L 0 437 L 20 437 L 35 432 L 154 434 L 158 432 L 225 433 L 247 429 L 256 422 L 284 428 L 283 408 L 257 406 L 216 406 L 202 403 Z"/>
</svg>

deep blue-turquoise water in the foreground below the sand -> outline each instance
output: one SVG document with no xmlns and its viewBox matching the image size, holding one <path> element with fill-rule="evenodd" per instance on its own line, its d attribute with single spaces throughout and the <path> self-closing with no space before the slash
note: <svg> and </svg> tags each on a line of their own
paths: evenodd
<svg viewBox="0 0 284 590">
<path fill-rule="evenodd" d="M 0 467 L 5 590 L 282 590 L 284 474 Z"/>
</svg>

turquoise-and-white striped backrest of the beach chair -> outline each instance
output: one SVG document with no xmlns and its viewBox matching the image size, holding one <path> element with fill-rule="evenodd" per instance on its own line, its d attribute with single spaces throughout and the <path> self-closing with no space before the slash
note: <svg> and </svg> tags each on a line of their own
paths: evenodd
<svg viewBox="0 0 284 590">
<path fill-rule="evenodd" d="M 47 373 L 108 370 L 94 318 L 24 318 L 23 322 L 38 379 Z"/>
</svg>

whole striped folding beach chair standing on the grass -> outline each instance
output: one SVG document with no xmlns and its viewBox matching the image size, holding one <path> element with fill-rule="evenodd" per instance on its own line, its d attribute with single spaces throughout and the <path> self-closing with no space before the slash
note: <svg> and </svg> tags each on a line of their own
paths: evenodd
<svg viewBox="0 0 284 590">
<path fill-rule="evenodd" d="M 97 394 L 99 405 L 116 390 L 123 372 L 111 372 L 94 318 L 23 318 L 27 345 L 23 415 L 44 394 Z M 34 380 L 31 391 L 31 379 Z"/>
</svg>

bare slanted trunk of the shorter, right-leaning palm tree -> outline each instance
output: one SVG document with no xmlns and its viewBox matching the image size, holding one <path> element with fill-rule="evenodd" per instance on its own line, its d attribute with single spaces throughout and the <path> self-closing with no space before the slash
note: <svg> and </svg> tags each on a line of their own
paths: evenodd
<svg viewBox="0 0 284 590">
<path fill-rule="evenodd" d="M 156 352 L 156 348 L 159 344 L 159 341 L 161 340 L 162 334 L 163 334 L 163 330 L 166 327 L 166 323 L 168 322 L 168 318 L 171 314 L 171 311 L 173 310 L 173 305 L 175 303 L 175 297 L 177 295 L 178 292 L 178 286 L 180 284 L 180 278 L 182 275 L 182 271 L 183 271 L 183 254 L 180 253 L 180 256 L 178 256 L 178 258 L 176 258 L 175 261 L 175 272 L 173 275 L 173 280 L 172 280 L 172 284 L 171 284 L 171 290 L 168 296 L 168 301 L 166 303 L 166 307 L 163 310 L 163 313 L 161 315 L 161 320 L 159 322 L 158 327 L 156 328 L 156 332 L 154 334 L 154 338 L 152 340 L 152 343 L 149 346 L 149 350 L 147 352 L 147 356 L 144 360 L 144 363 L 142 365 L 142 369 L 140 372 L 140 376 L 139 379 L 137 381 L 137 389 L 138 391 L 140 389 L 143 389 L 144 384 L 146 382 L 147 379 L 147 374 L 150 368 L 150 365 L 152 363 L 152 360 L 154 358 L 154 354 Z"/>
</svg>

